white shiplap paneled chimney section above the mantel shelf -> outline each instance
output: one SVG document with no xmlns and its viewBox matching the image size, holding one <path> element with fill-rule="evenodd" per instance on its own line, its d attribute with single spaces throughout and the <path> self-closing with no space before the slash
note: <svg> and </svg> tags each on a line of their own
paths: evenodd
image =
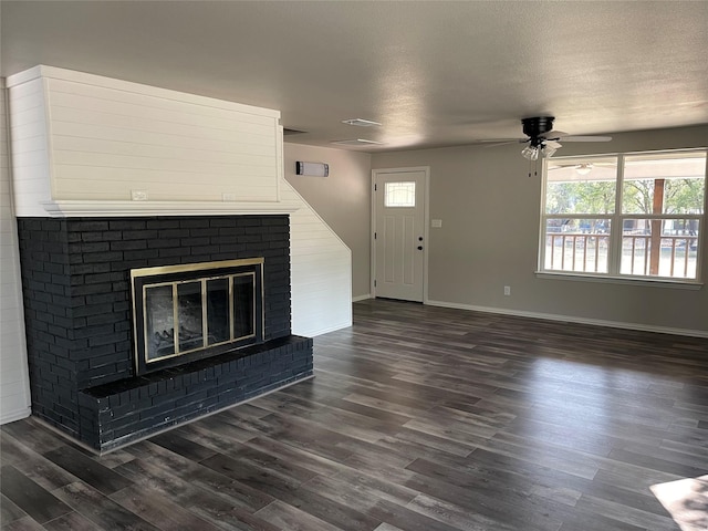
<svg viewBox="0 0 708 531">
<path fill-rule="evenodd" d="M 274 202 L 278 111 L 38 66 L 8 79 L 19 216 L 40 201 Z"/>
</svg>

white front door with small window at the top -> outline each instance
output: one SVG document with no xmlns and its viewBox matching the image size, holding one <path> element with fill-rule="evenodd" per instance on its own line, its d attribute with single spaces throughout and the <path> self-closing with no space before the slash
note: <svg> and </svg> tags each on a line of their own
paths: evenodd
<svg viewBox="0 0 708 531">
<path fill-rule="evenodd" d="M 423 302 L 427 168 L 374 171 L 374 293 Z"/>
</svg>

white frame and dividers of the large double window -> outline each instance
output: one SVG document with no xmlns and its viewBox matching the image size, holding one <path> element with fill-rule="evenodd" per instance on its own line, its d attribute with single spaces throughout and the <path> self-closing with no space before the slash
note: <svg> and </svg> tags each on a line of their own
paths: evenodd
<svg viewBox="0 0 708 531">
<path fill-rule="evenodd" d="M 688 214 L 660 214 L 660 215 L 647 215 L 647 214 L 623 214 L 623 190 L 624 190 L 624 168 L 627 157 L 637 155 L 685 155 L 689 153 L 702 154 L 706 156 L 706 169 L 704 174 L 704 209 L 702 214 L 688 215 Z M 648 150 L 648 152 L 628 152 L 628 153 L 608 153 L 608 154 L 592 154 L 592 155 L 579 155 L 571 157 L 554 157 L 555 159 L 563 160 L 577 160 L 579 163 L 589 163 L 593 158 L 615 158 L 617 162 L 617 171 L 615 180 L 615 208 L 613 214 L 580 214 L 580 215 L 548 215 L 546 208 L 546 186 L 548 186 L 548 159 L 543 160 L 543 176 L 541 188 L 541 212 L 540 212 L 540 227 L 539 227 L 539 252 L 538 252 L 538 269 L 535 271 L 539 278 L 564 278 L 569 280 L 586 280 L 586 281 L 600 281 L 600 282 L 614 282 L 614 283 L 644 283 L 646 285 L 674 285 L 685 287 L 687 289 L 699 289 L 702 283 L 702 254 L 705 254 L 705 242 L 707 241 L 705 232 L 707 230 L 706 221 L 708 219 L 706 210 L 708 208 L 708 149 L 707 148 L 689 148 L 689 149 L 664 149 L 664 150 Z M 610 240 L 608 240 L 608 257 L 607 257 L 607 273 L 603 272 L 584 272 L 584 271 L 571 271 L 560 269 L 545 269 L 545 252 L 546 252 L 546 221 L 549 219 L 608 219 L 611 223 Z M 641 275 L 633 273 L 622 273 L 622 246 L 624 237 L 624 221 L 627 219 L 697 219 L 700 227 L 699 240 L 698 240 L 698 253 L 696 257 L 696 278 L 680 278 L 680 277 L 659 277 L 659 275 Z"/>
</svg>

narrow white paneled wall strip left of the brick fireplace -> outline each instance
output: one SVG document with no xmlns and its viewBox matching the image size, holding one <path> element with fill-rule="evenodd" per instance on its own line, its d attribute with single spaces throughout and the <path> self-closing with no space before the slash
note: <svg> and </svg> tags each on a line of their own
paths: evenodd
<svg viewBox="0 0 708 531">
<path fill-rule="evenodd" d="M 0 86 L 0 424 L 30 415 L 17 226 L 12 215 L 4 83 Z"/>
</svg>

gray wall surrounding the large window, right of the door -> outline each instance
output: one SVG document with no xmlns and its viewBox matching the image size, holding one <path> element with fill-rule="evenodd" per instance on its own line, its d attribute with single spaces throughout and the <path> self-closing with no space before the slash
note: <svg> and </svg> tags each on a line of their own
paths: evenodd
<svg viewBox="0 0 708 531">
<path fill-rule="evenodd" d="M 708 125 L 614 134 L 559 155 L 705 147 Z M 541 176 L 521 147 L 465 146 L 375 154 L 372 168 L 430 166 L 428 300 L 433 303 L 708 333 L 708 289 L 537 278 Z M 539 164 L 539 173 L 541 165 Z M 708 269 L 708 231 L 702 228 Z M 704 273 L 704 280 L 708 271 Z M 511 296 L 503 287 L 511 287 Z"/>
</svg>

